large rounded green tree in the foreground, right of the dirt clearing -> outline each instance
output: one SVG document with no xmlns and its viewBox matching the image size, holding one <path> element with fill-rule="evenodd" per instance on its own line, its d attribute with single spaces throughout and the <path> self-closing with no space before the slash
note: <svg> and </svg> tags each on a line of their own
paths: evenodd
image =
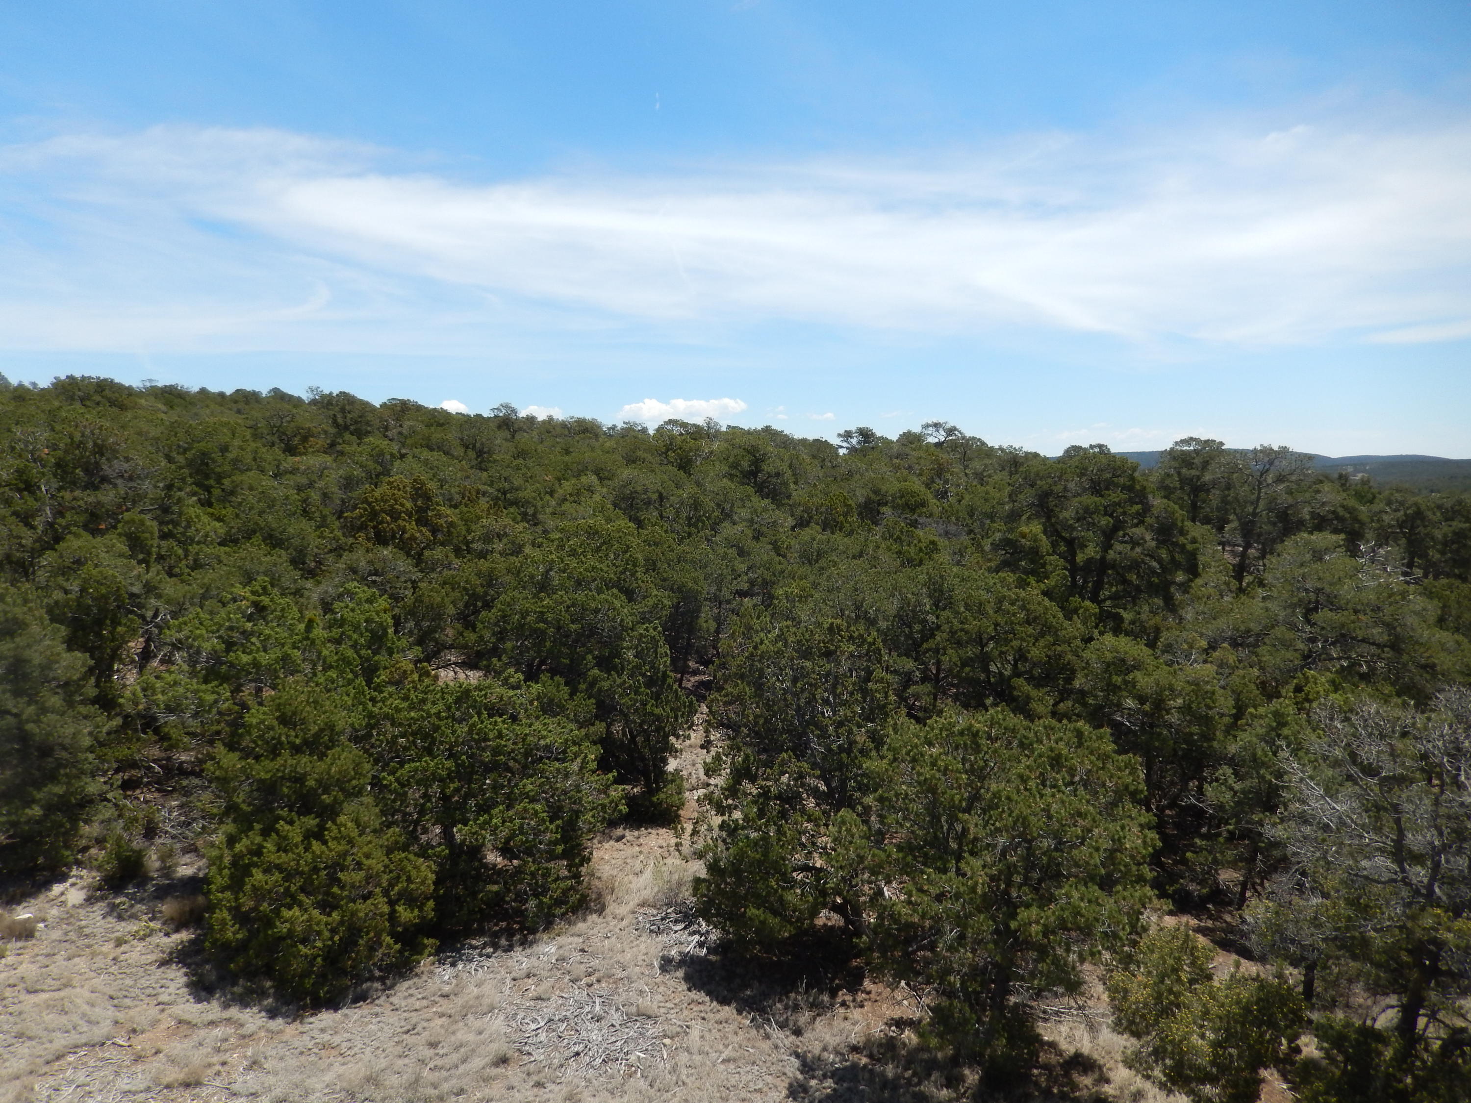
<svg viewBox="0 0 1471 1103">
<path fill-rule="evenodd" d="M 1081 963 L 1119 949 L 1150 897 L 1137 765 L 1081 724 L 993 710 L 900 727 L 875 771 L 847 857 L 872 887 L 874 963 L 933 993 L 937 1040 L 1024 1060 L 1016 991 L 1080 991 Z"/>
</svg>

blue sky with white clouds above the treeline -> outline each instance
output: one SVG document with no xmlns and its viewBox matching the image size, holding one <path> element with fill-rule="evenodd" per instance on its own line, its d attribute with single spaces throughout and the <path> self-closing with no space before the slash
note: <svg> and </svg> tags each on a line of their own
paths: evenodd
<svg viewBox="0 0 1471 1103">
<path fill-rule="evenodd" d="M 1468 3 L 0 9 L 0 372 L 1471 456 Z"/>
</svg>

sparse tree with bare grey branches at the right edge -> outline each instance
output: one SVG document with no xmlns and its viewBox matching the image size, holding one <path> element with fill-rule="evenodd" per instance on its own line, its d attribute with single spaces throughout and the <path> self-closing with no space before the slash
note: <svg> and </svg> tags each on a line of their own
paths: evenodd
<svg viewBox="0 0 1471 1103">
<path fill-rule="evenodd" d="M 1344 994 L 1387 997 L 1412 1060 L 1471 1025 L 1471 694 L 1425 712 L 1330 700 L 1317 722 L 1286 760 L 1274 834 L 1290 866 L 1253 909 L 1256 937 Z"/>
</svg>

